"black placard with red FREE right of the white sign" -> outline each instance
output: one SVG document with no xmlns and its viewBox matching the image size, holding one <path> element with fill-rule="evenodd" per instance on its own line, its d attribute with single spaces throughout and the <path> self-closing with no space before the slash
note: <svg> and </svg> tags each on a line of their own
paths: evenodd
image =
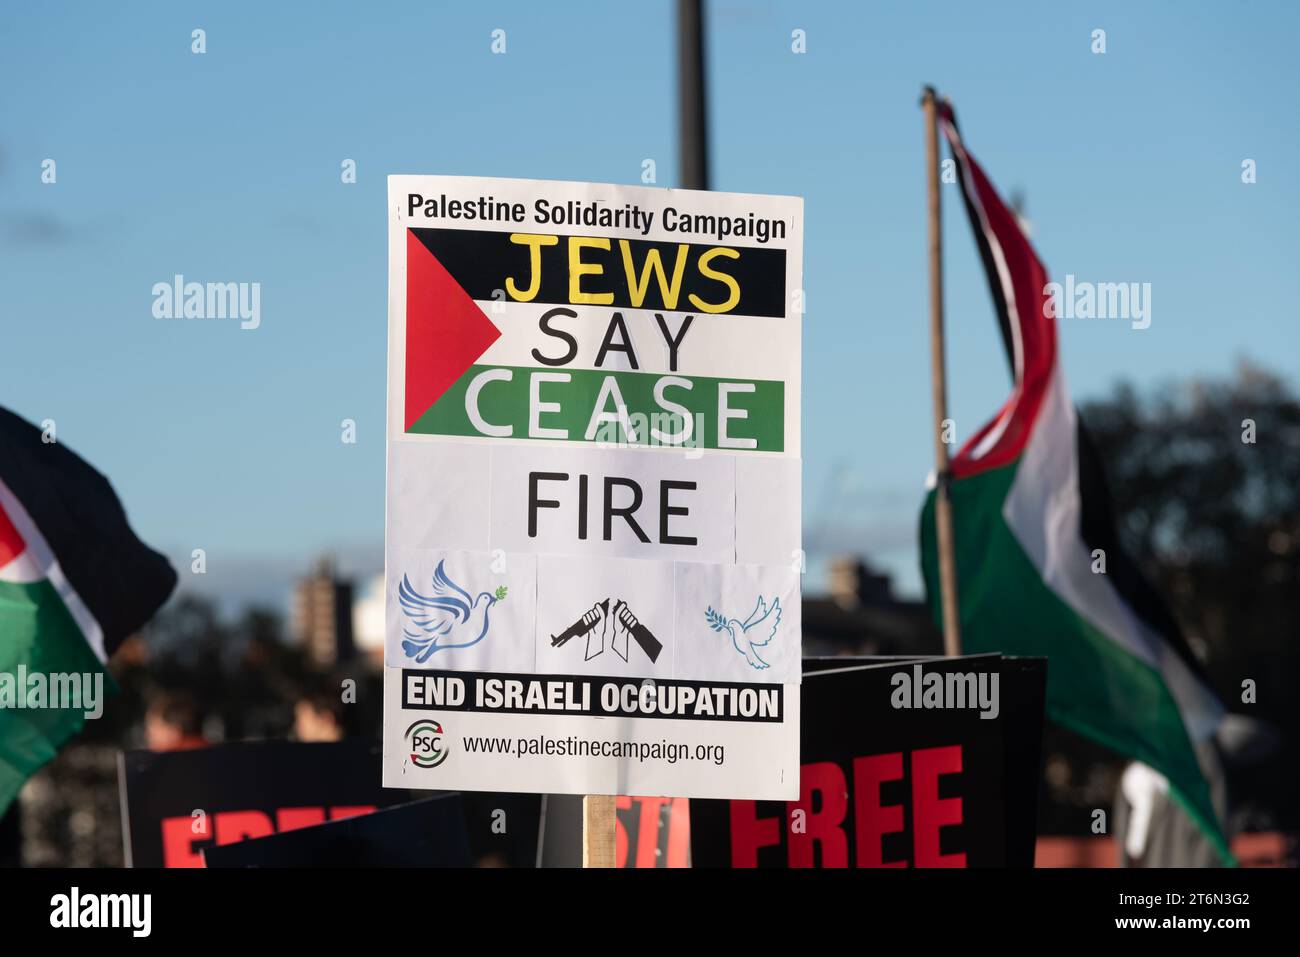
<svg viewBox="0 0 1300 957">
<path fill-rule="evenodd" d="M 800 800 L 692 801 L 693 866 L 1032 865 L 1045 662 L 863 661 L 805 659 Z M 897 707 L 898 675 L 996 675 L 997 715 Z"/>
</svg>

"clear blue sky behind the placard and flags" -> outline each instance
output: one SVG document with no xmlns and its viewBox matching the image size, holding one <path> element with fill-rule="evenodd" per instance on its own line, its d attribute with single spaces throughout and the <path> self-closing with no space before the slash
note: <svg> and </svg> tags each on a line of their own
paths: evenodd
<svg viewBox="0 0 1300 957">
<path fill-rule="evenodd" d="M 931 465 L 922 83 L 1027 196 L 1053 278 L 1152 283 L 1149 329 L 1062 322 L 1076 398 L 1240 358 L 1296 381 L 1300 8 L 1065 7 L 708 5 L 714 187 L 806 199 L 805 531 L 905 592 Z M 637 183 L 654 159 L 676 185 L 672 8 L 6 5 L 0 404 L 53 419 L 147 541 L 204 547 L 209 577 L 186 560 L 186 584 L 269 598 L 321 550 L 377 570 L 386 174 Z M 944 199 L 961 438 L 1008 380 Z M 176 273 L 260 282 L 261 326 L 155 320 L 151 287 Z"/>
</svg>

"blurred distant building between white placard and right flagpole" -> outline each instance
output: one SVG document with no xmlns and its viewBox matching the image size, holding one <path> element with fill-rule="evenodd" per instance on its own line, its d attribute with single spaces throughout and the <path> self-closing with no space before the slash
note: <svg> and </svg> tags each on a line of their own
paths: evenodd
<svg viewBox="0 0 1300 957">
<path fill-rule="evenodd" d="M 893 594 L 888 575 L 853 557 L 831 562 L 826 596 L 803 598 L 803 654 L 942 654 L 924 602 Z"/>
</svg>

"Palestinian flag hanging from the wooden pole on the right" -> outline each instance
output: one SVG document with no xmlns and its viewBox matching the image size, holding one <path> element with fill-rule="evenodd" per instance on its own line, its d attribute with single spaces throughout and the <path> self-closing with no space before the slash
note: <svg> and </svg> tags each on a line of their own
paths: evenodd
<svg viewBox="0 0 1300 957">
<path fill-rule="evenodd" d="M 1214 733 L 1223 709 L 1174 619 L 1119 549 L 1101 463 L 1057 361 L 1046 270 L 962 146 L 948 104 L 939 117 L 1014 378 L 1006 404 L 949 469 L 962 650 L 1045 655 L 1048 715 L 1165 775 L 1231 861 L 1193 746 Z M 941 620 L 933 508 L 931 492 L 922 568 Z"/>
</svg>

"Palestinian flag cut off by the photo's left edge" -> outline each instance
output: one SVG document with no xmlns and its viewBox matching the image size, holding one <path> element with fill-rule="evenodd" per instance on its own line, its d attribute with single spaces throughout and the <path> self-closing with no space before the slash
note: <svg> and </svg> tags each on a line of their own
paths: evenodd
<svg viewBox="0 0 1300 957">
<path fill-rule="evenodd" d="M 55 689 L 99 674 L 113 688 L 109 655 L 174 586 L 108 480 L 0 408 L 0 814 L 82 728 Z"/>
</svg>

